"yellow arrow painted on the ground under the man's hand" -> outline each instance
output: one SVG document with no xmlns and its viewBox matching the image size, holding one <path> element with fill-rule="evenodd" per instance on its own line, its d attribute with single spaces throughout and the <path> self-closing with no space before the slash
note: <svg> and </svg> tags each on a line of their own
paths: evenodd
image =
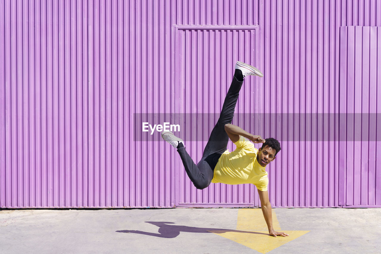
<svg viewBox="0 0 381 254">
<path fill-rule="evenodd" d="M 277 215 L 272 210 L 272 225 L 274 230 L 281 230 Z M 282 230 L 289 236 L 269 236 L 266 221 L 264 220 L 262 209 L 243 208 L 238 210 L 237 230 L 245 232 L 226 232 L 213 230 L 219 236 L 243 244 L 261 253 L 272 251 L 285 243 L 288 243 L 309 231 Z"/>
</svg>

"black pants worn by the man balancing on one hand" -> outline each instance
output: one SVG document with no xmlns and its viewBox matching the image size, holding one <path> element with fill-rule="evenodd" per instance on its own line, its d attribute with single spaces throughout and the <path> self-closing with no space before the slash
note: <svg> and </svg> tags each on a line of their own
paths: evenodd
<svg viewBox="0 0 381 254">
<path fill-rule="evenodd" d="M 177 150 L 189 178 L 197 189 L 202 190 L 210 185 L 211 180 L 213 179 L 214 167 L 216 166 L 215 163 L 213 164 L 213 161 L 215 161 L 215 159 L 218 160 L 219 156 L 227 150 L 229 137 L 225 131 L 225 124 L 231 124 L 233 120 L 235 104 L 237 103 L 242 84 L 243 80 L 238 81 L 233 77 L 218 122 L 210 133 L 208 143 L 205 146 L 204 153 L 202 154 L 199 163 L 197 163 L 197 165 L 194 164 L 191 156 L 189 156 L 184 147 Z"/>
</svg>

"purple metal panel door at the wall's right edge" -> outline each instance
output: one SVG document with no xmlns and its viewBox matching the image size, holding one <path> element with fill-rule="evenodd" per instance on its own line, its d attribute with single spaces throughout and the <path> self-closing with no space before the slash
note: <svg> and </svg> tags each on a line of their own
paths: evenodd
<svg viewBox="0 0 381 254">
<path fill-rule="evenodd" d="M 381 27 L 341 27 L 339 204 L 344 207 L 381 205 L 379 73 Z"/>
</svg>

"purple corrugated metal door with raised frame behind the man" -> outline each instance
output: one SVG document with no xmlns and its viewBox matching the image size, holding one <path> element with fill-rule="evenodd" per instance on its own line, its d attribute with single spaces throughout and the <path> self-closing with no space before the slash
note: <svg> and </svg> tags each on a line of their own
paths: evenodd
<svg viewBox="0 0 381 254">
<path fill-rule="evenodd" d="M 258 26 L 176 26 L 175 36 L 175 113 L 185 116 L 185 128 L 178 135 L 185 137 L 187 151 L 196 162 L 219 117 L 235 61 L 258 66 Z M 254 119 L 254 113 L 258 113 L 258 82 L 258 77 L 245 80 L 235 109 L 233 123 L 246 130 L 254 130 L 258 124 Z M 235 149 L 233 146 L 230 142 L 229 151 Z M 176 206 L 258 206 L 254 185 L 211 184 L 197 190 L 180 159 L 175 184 Z"/>
</svg>

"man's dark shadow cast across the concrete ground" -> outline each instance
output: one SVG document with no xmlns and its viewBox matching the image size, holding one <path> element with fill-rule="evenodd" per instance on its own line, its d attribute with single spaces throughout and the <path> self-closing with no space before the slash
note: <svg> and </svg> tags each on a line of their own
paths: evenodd
<svg viewBox="0 0 381 254">
<path fill-rule="evenodd" d="M 179 225 L 167 225 L 167 224 L 174 224 L 174 222 L 155 222 L 155 221 L 146 221 L 146 222 L 159 227 L 158 233 L 150 233 L 150 232 L 144 232 L 144 231 L 139 231 L 139 230 L 117 230 L 116 232 L 119 232 L 119 233 L 135 233 L 135 234 L 141 234 L 141 235 L 157 236 L 157 237 L 162 237 L 162 238 L 174 238 L 174 237 L 180 235 L 180 232 L 191 232 L 191 233 L 238 232 L 238 233 L 251 233 L 251 234 L 258 234 L 258 235 L 268 235 L 265 233 L 234 230 L 234 229 L 197 228 L 197 227 L 188 227 L 188 226 L 179 226 Z"/>
</svg>

